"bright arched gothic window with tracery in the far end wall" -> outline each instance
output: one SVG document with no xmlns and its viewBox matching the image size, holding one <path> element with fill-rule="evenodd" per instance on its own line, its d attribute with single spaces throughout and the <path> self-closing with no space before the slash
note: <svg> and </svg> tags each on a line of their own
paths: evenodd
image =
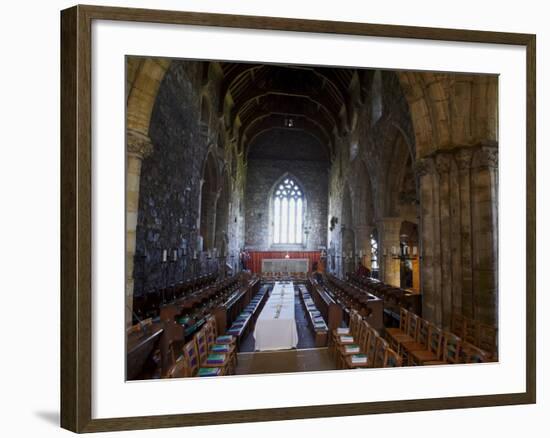
<svg viewBox="0 0 550 438">
<path fill-rule="evenodd" d="M 290 177 L 273 193 L 273 243 L 302 243 L 304 194 Z"/>
</svg>

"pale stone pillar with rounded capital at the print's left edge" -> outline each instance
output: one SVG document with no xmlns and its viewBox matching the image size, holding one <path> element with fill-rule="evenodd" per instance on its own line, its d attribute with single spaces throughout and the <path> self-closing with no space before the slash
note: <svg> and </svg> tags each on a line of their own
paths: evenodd
<svg viewBox="0 0 550 438">
<path fill-rule="evenodd" d="M 128 131 L 126 138 L 126 326 L 132 324 L 134 301 L 134 255 L 139 209 L 141 163 L 153 152 L 146 135 Z"/>
</svg>

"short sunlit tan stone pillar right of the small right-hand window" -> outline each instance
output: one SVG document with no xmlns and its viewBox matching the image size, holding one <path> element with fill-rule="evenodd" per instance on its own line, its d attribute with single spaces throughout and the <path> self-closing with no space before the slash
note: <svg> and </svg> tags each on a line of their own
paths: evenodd
<svg viewBox="0 0 550 438">
<path fill-rule="evenodd" d="M 378 229 L 378 251 L 380 258 L 380 279 L 392 286 L 401 286 L 401 262 L 391 255 L 392 246 L 399 251 L 401 218 L 386 217 L 376 222 Z"/>
</svg>

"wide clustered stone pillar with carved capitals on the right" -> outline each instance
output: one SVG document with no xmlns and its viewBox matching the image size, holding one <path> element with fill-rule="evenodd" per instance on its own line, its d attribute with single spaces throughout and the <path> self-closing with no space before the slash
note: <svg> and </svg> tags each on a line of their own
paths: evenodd
<svg viewBox="0 0 550 438">
<path fill-rule="evenodd" d="M 466 146 L 417 162 L 424 318 L 494 324 L 498 308 L 498 149 Z"/>
</svg>

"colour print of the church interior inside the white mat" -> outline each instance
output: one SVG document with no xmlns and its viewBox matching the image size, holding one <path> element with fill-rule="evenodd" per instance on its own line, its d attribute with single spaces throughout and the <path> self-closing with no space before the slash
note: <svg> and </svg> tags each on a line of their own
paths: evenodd
<svg viewBox="0 0 550 438">
<path fill-rule="evenodd" d="M 127 381 L 499 361 L 498 74 L 126 55 L 125 90 Z"/>
</svg>

